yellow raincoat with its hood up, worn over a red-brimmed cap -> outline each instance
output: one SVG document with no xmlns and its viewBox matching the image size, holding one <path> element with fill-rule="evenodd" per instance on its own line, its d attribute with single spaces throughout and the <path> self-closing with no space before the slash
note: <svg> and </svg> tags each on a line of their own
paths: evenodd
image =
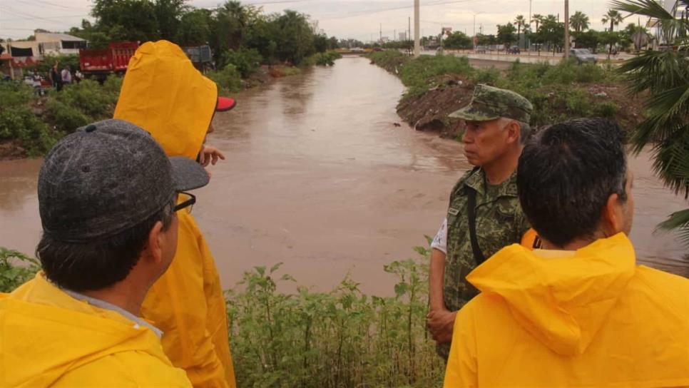
<svg viewBox="0 0 689 388">
<path fill-rule="evenodd" d="M 129 62 L 114 118 L 148 131 L 168 156 L 198 155 L 218 89 L 183 51 L 148 42 Z M 194 387 L 235 387 L 228 318 L 213 255 L 194 218 L 178 212 L 177 255 L 148 292 L 143 317 L 163 330 L 163 348 Z"/>
</svg>

